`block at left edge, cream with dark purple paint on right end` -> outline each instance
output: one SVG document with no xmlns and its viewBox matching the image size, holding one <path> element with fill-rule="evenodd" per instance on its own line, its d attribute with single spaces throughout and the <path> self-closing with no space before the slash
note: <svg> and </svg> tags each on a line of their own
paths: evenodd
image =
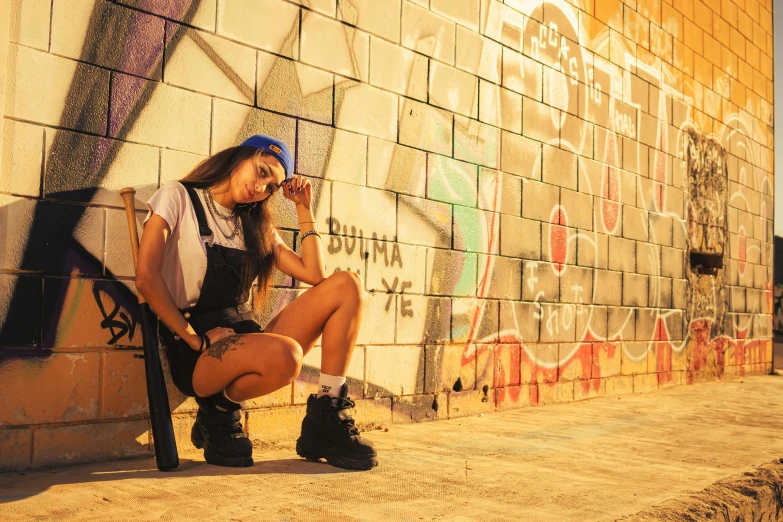
<svg viewBox="0 0 783 522">
<path fill-rule="evenodd" d="M 15 44 L 8 46 L 5 115 L 104 134 L 109 72 Z M 74 97 L 71 93 L 80 93 Z"/>
</svg>

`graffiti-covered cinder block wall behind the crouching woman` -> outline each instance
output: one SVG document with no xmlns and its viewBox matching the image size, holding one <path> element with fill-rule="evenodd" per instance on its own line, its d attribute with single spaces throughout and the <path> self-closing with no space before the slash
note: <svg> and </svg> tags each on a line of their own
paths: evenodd
<svg viewBox="0 0 783 522">
<path fill-rule="evenodd" d="M 3 5 L 0 468 L 151 452 L 118 190 L 257 132 L 365 283 L 368 428 L 770 370 L 771 0 Z M 297 434 L 319 358 L 251 438 Z"/>
</svg>

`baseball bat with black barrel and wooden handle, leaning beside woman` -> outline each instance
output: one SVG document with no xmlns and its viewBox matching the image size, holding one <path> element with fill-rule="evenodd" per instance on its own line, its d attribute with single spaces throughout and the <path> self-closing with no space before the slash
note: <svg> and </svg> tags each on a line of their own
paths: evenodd
<svg viewBox="0 0 783 522">
<path fill-rule="evenodd" d="M 130 232 L 131 251 L 133 253 L 133 268 L 136 268 L 139 255 L 139 233 L 136 230 L 136 190 L 124 188 L 120 191 L 125 202 L 125 214 L 128 217 L 128 232 Z M 179 466 L 177 443 L 174 439 L 174 426 L 171 423 L 169 394 L 166 391 L 166 381 L 163 378 L 163 367 L 160 364 L 158 342 L 155 335 L 152 310 L 150 305 L 139 294 L 139 313 L 141 314 L 141 339 L 144 345 L 144 374 L 147 379 L 147 401 L 150 407 L 150 423 L 152 424 L 152 440 L 155 443 L 155 461 L 158 469 L 168 471 Z"/>
</svg>

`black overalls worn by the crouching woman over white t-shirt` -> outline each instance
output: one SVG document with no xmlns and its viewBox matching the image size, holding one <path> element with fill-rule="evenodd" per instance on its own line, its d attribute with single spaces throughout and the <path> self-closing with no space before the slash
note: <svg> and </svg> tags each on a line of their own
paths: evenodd
<svg viewBox="0 0 783 522">
<path fill-rule="evenodd" d="M 183 183 L 193 203 L 198 220 L 199 235 L 212 236 L 207 226 L 204 207 L 193 185 Z M 201 295 L 195 306 L 181 310 L 196 333 L 202 335 L 212 328 L 232 328 L 238 334 L 261 332 L 248 303 L 250 288 L 258 275 L 254 256 L 237 248 L 206 243 L 207 271 L 201 286 Z M 183 262 L 187 260 L 183 259 Z M 189 397 L 193 391 L 193 370 L 199 354 L 169 330 L 161 321 L 161 340 L 167 345 L 171 378 L 179 390 Z"/>
</svg>

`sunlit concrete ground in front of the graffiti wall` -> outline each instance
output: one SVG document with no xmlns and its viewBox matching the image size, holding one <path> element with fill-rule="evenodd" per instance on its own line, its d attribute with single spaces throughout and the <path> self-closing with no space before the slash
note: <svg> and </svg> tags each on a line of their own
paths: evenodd
<svg viewBox="0 0 783 522">
<path fill-rule="evenodd" d="M 615 520 L 783 456 L 782 399 L 783 377 L 761 376 L 393 425 L 368 434 L 370 472 L 288 443 L 244 469 L 193 454 L 169 473 L 151 458 L 5 473 L 0 519 Z"/>
</svg>

